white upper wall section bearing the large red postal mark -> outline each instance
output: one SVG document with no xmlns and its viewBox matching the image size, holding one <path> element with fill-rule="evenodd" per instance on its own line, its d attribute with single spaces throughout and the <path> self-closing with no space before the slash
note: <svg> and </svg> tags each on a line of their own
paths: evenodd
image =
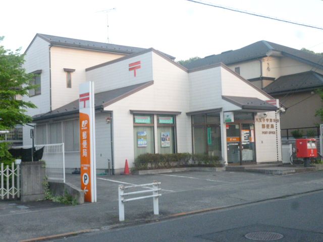
<svg viewBox="0 0 323 242">
<path fill-rule="evenodd" d="M 136 70 L 135 77 L 134 71 L 129 71 L 129 64 L 138 61 L 141 68 Z M 94 81 L 95 93 L 152 81 L 152 52 L 87 71 L 86 80 Z"/>
</svg>

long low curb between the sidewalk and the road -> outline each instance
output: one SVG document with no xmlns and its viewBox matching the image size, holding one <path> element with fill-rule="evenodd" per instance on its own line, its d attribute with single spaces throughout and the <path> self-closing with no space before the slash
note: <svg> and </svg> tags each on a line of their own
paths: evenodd
<svg viewBox="0 0 323 242">
<path fill-rule="evenodd" d="M 261 199 L 261 200 L 257 200 L 257 201 L 235 204 L 235 205 L 224 206 L 224 207 L 213 207 L 213 208 L 205 208 L 205 209 L 189 211 L 189 212 L 174 213 L 174 214 L 166 215 L 164 217 L 136 220 L 136 221 L 126 222 L 126 223 L 122 223 L 122 224 L 103 226 L 100 228 L 84 229 L 84 230 L 78 230 L 78 231 L 68 232 L 68 233 L 41 236 L 41 237 L 37 237 L 37 238 L 19 240 L 18 242 L 37 242 L 37 241 L 44 241 L 44 240 L 49 240 L 49 239 L 70 237 L 70 236 L 75 236 L 75 235 L 79 235 L 82 233 L 95 232 L 95 231 L 101 231 L 101 230 L 113 229 L 113 228 L 123 228 L 123 227 L 131 226 L 131 225 L 139 225 L 139 224 L 145 224 L 145 223 L 150 223 L 150 222 L 156 222 L 156 221 L 160 221 L 160 220 L 166 220 L 166 219 L 170 219 L 170 218 L 178 218 L 178 217 L 200 214 L 200 213 L 211 212 L 211 211 L 217 211 L 217 210 L 222 210 L 222 209 L 235 208 L 235 207 L 239 207 L 239 206 L 251 205 L 251 204 L 256 204 L 256 203 L 261 203 L 261 202 L 266 202 L 266 201 L 273 201 L 273 200 L 278 200 L 278 199 L 283 199 L 283 198 L 294 197 L 294 196 L 298 196 L 298 195 L 302 195 L 302 194 L 315 193 L 315 192 L 319 192 L 319 191 L 323 191 L 323 189 L 316 189 L 316 190 L 302 192 L 302 193 L 295 193 L 295 194 L 284 195 L 284 196 L 279 196 L 279 197 L 274 197 L 274 198 Z"/>
</svg>

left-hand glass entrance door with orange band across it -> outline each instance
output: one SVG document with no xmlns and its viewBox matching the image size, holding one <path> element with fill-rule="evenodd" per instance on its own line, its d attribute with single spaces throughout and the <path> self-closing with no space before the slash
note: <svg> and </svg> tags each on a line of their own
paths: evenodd
<svg viewBox="0 0 323 242">
<path fill-rule="evenodd" d="M 228 163 L 240 164 L 240 125 L 226 125 Z"/>
</svg>

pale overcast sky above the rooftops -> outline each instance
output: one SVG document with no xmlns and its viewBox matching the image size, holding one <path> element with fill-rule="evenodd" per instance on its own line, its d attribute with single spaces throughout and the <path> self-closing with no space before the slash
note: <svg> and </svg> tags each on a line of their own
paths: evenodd
<svg viewBox="0 0 323 242">
<path fill-rule="evenodd" d="M 206 1 L 200 1 L 206 2 Z M 323 27 L 322 0 L 208 0 L 207 3 Z M 105 12 L 105 10 L 110 10 Z M 109 31 L 107 31 L 107 23 Z M 259 40 L 323 52 L 323 30 L 186 0 L 3 0 L 0 45 L 23 53 L 36 33 L 153 47 L 180 59 L 239 49 Z M 108 34 L 109 33 L 109 34 Z"/>
</svg>

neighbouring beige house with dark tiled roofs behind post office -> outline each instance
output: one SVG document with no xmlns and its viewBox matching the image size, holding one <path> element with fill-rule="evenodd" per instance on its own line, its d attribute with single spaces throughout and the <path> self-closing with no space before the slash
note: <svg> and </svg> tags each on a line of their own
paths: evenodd
<svg viewBox="0 0 323 242">
<path fill-rule="evenodd" d="M 291 137 L 290 131 L 299 128 L 306 128 L 304 135 L 309 130 L 318 135 L 318 128 L 308 127 L 320 123 L 315 110 L 323 103 L 315 90 L 323 87 L 323 56 L 262 40 L 206 56 L 185 67 L 207 68 L 220 62 L 280 100 L 286 109 L 281 115 L 284 138 Z"/>
</svg>

